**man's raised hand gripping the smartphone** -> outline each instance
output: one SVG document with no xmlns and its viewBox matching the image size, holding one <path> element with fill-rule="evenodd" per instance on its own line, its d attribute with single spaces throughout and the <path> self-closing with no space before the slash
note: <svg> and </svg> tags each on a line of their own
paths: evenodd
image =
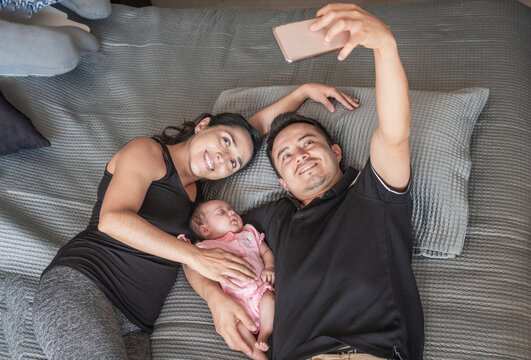
<svg viewBox="0 0 531 360">
<path fill-rule="evenodd" d="M 345 59 L 352 50 L 362 45 L 368 49 L 380 49 L 396 43 L 387 25 L 354 4 L 329 4 L 317 12 L 319 19 L 310 26 L 317 31 L 330 26 L 325 41 L 332 41 L 339 33 L 348 31 L 350 38 L 339 52 L 338 59 Z"/>
</svg>

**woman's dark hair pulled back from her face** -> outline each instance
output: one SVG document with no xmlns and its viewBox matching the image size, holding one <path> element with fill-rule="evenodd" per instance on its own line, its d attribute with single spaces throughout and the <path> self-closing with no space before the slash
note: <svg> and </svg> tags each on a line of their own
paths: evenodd
<svg viewBox="0 0 531 360">
<path fill-rule="evenodd" d="M 208 127 L 223 125 L 231 128 L 240 128 L 247 131 L 253 143 L 252 157 L 254 157 L 254 154 L 256 154 L 256 152 L 260 148 L 260 135 L 258 135 L 258 131 L 256 131 L 256 129 L 253 128 L 247 122 L 247 120 L 245 120 L 245 118 L 239 114 L 221 113 L 217 115 L 212 115 L 209 113 L 203 113 L 193 121 L 185 121 L 181 124 L 181 126 L 168 126 L 162 131 L 162 134 L 155 135 L 155 137 L 166 145 L 174 145 L 186 141 L 192 136 L 194 136 L 195 127 L 197 126 L 197 124 L 207 117 L 210 118 L 210 123 L 208 124 Z"/>
</svg>

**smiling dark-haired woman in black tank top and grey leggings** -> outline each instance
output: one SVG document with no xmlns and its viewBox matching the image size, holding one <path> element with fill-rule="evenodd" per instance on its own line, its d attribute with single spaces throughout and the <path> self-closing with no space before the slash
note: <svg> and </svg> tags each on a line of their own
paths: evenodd
<svg viewBox="0 0 531 360">
<path fill-rule="evenodd" d="M 357 107 L 334 88 L 306 84 L 250 123 L 264 135 L 279 112 L 295 110 L 307 98 L 330 108 L 327 97 Z M 245 167 L 258 149 L 256 130 L 228 113 L 201 116 L 173 137 L 166 130 L 132 140 L 111 158 L 87 229 L 65 244 L 43 272 L 33 321 L 49 359 L 149 357 L 148 334 L 179 263 L 232 287 L 225 276 L 254 281 L 251 265 L 240 257 L 199 249 L 176 236 L 191 234 L 196 182 L 225 178 Z"/>
</svg>

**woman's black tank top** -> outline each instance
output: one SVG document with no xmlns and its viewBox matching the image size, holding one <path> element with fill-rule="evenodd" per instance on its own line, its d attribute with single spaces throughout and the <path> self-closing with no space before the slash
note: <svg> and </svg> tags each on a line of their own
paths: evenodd
<svg viewBox="0 0 531 360">
<path fill-rule="evenodd" d="M 171 235 L 191 236 L 188 218 L 193 202 L 181 183 L 168 148 L 158 142 L 167 172 L 162 179 L 151 183 L 138 215 Z M 59 249 L 43 274 L 59 265 L 80 271 L 132 323 L 151 333 L 175 282 L 179 263 L 136 250 L 98 231 L 101 204 L 111 178 L 112 174 L 105 170 L 88 227 Z"/>
</svg>

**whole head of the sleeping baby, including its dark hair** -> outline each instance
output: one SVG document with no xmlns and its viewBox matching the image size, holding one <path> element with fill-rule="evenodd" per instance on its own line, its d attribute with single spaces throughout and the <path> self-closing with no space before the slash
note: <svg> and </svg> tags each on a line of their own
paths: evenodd
<svg viewBox="0 0 531 360">
<path fill-rule="evenodd" d="M 242 227 L 242 218 L 221 200 L 200 203 L 190 217 L 190 228 L 198 239 L 217 239 L 228 232 L 240 232 Z"/>
</svg>

